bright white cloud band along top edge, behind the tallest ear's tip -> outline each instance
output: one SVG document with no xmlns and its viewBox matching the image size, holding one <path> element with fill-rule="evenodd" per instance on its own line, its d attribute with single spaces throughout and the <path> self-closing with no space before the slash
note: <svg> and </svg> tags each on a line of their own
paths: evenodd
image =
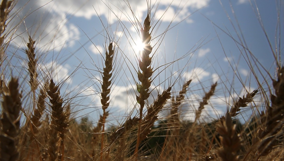
<svg viewBox="0 0 284 161">
<path fill-rule="evenodd" d="M 182 0 L 164 0 L 159 1 L 159 6 L 169 6 L 170 8 L 175 7 L 182 10 L 179 13 L 180 17 L 186 17 L 189 15 L 188 8 L 191 9 L 199 9 L 209 4 L 210 0 L 191 0 L 191 1 L 182 1 Z M 90 1 L 90 0 L 54 0 L 47 4 L 48 1 L 39 1 L 37 2 L 38 6 L 43 6 L 48 8 L 50 12 L 56 12 L 58 14 L 66 15 L 74 15 L 76 17 L 84 17 L 86 19 L 90 19 L 92 16 L 105 16 L 110 22 L 113 20 L 117 20 L 117 17 L 120 20 L 134 20 L 133 16 L 129 16 L 129 14 L 122 14 L 121 11 L 131 13 L 130 7 L 132 9 L 133 14 L 139 19 L 139 16 L 143 16 L 143 12 L 147 11 L 147 3 L 146 1 L 140 0 L 131 0 L 126 4 L 123 1 L 117 0 L 108 0 L 108 1 Z M 112 10 L 109 11 L 109 8 Z M 172 9 L 169 11 L 172 13 Z M 115 16 L 115 15 L 117 16 Z M 139 15 L 139 16 L 138 16 Z M 174 14 L 173 14 L 174 15 Z M 172 16 L 173 16 L 172 15 Z"/>
</svg>

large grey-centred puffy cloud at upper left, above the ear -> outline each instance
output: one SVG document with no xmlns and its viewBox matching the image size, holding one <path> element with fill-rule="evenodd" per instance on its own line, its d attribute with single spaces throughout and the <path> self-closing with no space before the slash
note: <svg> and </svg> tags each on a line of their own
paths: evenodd
<svg viewBox="0 0 284 161">
<path fill-rule="evenodd" d="M 41 49 L 41 51 L 50 50 L 50 47 L 53 48 L 53 46 L 56 51 L 59 51 L 62 47 L 73 46 L 80 35 L 77 26 L 70 23 L 66 15 L 51 12 L 51 9 L 56 5 L 49 6 L 51 8 L 48 8 L 41 7 L 41 3 L 42 1 L 38 1 L 38 3 L 36 1 L 29 1 L 26 4 L 26 1 L 19 1 L 16 4 L 15 9 L 21 8 L 22 12 L 8 26 L 8 28 L 15 25 L 18 26 L 12 43 L 15 46 L 24 48 L 25 41 L 28 41 L 28 34 L 26 32 L 28 30 L 28 33 L 36 40 L 36 47 Z M 28 16 L 20 24 L 21 17 L 26 14 Z"/>
</svg>

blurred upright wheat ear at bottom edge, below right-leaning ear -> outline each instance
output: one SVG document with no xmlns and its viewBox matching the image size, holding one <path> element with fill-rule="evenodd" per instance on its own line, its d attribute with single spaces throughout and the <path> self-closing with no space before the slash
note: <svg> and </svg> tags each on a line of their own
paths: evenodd
<svg viewBox="0 0 284 161">
<path fill-rule="evenodd" d="M 227 112 L 226 117 L 222 116 L 216 126 L 216 130 L 220 134 L 220 142 L 223 146 L 218 149 L 218 156 L 223 161 L 239 160 L 237 152 L 241 147 L 241 139 L 236 132 L 236 124 L 232 123 L 231 115 Z"/>
</svg>

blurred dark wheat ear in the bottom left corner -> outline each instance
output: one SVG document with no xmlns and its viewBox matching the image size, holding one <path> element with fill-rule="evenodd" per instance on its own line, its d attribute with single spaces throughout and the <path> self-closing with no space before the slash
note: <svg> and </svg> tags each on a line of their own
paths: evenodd
<svg viewBox="0 0 284 161">
<path fill-rule="evenodd" d="M 2 129 L 0 135 L 1 161 L 16 161 L 19 159 L 18 131 L 20 128 L 21 98 L 18 89 L 18 79 L 11 78 L 4 93 L 2 102 Z"/>
</svg>

